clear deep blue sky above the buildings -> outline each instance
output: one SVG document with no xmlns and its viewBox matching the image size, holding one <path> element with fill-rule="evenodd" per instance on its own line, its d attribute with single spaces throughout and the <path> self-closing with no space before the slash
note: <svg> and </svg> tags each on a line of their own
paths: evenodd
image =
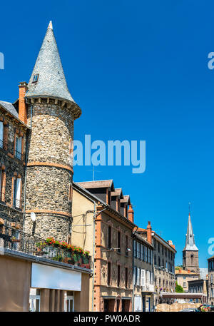
<svg viewBox="0 0 214 326">
<path fill-rule="evenodd" d="M 13 9 L 13 10 L 11 10 Z M 0 98 L 14 101 L 29 81 L 49 21 L 68 88 L 83 114 L 75 138 L 146 140 L 146 171 L 98 166 L 131 195 L 135 221 L 148 220 L 173 240 L 177 262 L 188 223 L 188 202 L 200 267 L 207 267 L 213 231 L 213 1 L 19 1 L 1 4 Z M 90 167 L 74 180 L 91 180 Z"/>
</svg>

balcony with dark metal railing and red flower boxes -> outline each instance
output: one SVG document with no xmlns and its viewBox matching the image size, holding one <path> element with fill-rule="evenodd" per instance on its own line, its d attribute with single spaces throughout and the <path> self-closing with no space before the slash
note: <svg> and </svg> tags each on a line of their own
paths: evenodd
<svg viewBox="0 0 214 326">
<path fill-rule="evenodd" d="M 91 269 L 91 256 L 81 248 L 68 245 L 65 241 L 56 241 L 54 238 L 37 238 L 6 225 L 0 225 L 0 247 L 10 250 L 11 253 L 26 253 Z"/>
</svg>

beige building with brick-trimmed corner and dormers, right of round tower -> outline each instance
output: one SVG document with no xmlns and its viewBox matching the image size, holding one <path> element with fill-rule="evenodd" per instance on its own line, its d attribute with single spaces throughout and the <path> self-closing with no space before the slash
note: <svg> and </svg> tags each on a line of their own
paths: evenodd
<svg viewBox="0 0 214 326">
<path fill-rule="evenodd" d="M 73 183 L 71 240 L 93 253 L 92 311 L 132 310 L 134 224 L 130 204 L 129 196 L 115 189 L 112 180 Z"/>
</svg>

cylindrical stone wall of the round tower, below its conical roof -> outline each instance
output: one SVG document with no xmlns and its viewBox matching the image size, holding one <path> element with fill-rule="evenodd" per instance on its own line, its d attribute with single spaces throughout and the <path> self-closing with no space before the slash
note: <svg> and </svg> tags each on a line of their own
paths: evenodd
<svg viewBox="0 0 214 326">
<path fill-rule="evenodd" d="M 40 103 L 41 102 L 41 103 Z M 32 112 L 32 117 L 31 117 Z M 71 227 L 71 200 L 68 200 L 73 179 L 69 158 L 73 141 L 71 110 L 53 99 L 35 99 L 29 106 L 28 124 L 32 126 L 26 175 L 25 231 L 46 238 L 68 240 Z M 31 222 L 36 213 L 36 223 Z"/>
</svg>

